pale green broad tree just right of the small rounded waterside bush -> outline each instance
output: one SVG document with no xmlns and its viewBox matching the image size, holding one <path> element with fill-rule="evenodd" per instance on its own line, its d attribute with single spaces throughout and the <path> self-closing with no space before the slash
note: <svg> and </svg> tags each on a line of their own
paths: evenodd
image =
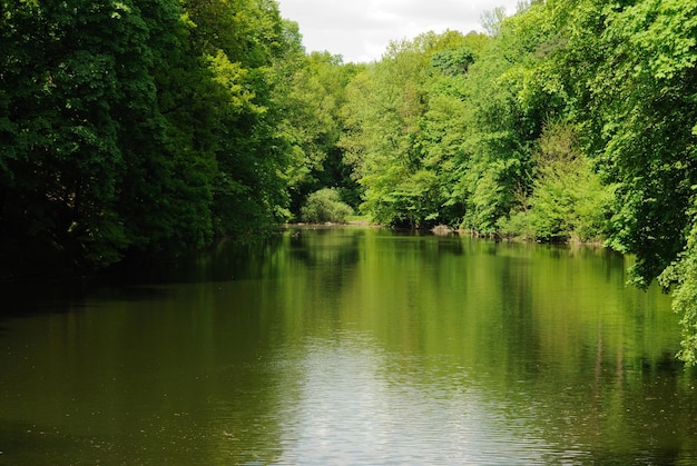
<svg viewBox="0 0 697 466">
<path fill-rule="evenodd" d="M 462 41 L 462 34 L 449 31 L 393 42 L 348 88 L 347 131 L 341 143 L 364 189 L 362 209 L 380 222 L 425 227 L 441 217 L 445 192 L 435 146 L 443 131 L 436 126 L 446 117 L 436 113 L 449 107 L 428 116 L 429 72 L 453 75 L 458 67 L 469 67 L 472 51 L 461 49 Z M 431 117 L 440 123 L 429 122 Z"/>
</svg>

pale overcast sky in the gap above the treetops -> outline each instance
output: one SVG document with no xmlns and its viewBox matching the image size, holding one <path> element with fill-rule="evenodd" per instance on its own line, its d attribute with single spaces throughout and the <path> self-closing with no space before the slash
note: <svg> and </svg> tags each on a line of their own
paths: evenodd
<svg viewBox="0 0 697 466">
<path fill-rule="evenodd" d="M 344 62 L 379 60 L 391 40 L 446 29 L 481 31 L 483 11 L 518 0 L 278 0 L 284 18 L 296 21 L 305 49 L 342 54 Z"/>
</svg>

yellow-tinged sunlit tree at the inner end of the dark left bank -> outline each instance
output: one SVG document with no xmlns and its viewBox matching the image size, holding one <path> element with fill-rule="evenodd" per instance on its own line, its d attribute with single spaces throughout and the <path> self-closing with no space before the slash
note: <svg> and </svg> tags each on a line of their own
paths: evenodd
<svg viewBox="0 0 697 466">
<path fill-rule="evenodd" d="M 301 47 L 275 1 L 190 0 L 193 47 L 214 88 L 208 111 L 217 175 L 214 228 L 243 234 L 288 218 L 287 173 L 296 159 L 283 131 L 284 75 L 277 66 Z"/>
</svg>

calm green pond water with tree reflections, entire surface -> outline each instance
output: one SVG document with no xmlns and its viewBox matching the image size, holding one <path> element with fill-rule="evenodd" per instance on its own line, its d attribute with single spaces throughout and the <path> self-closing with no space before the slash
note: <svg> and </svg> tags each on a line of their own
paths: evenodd
<svg viewBox="0 0 697 466">
<path fill-rule="evenodd" d="M 678 317 L 625 286 L 628 265 L 304 229 L 13 287 L 0 464 L 695 464 Z"/>
</svg>

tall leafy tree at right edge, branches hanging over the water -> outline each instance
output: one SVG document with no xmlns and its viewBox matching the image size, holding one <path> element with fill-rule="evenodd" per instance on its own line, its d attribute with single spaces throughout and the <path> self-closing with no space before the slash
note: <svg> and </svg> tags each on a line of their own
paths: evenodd
<svg viewBox="0 0 697 466">
<path fill-rule="evenodd" d="M 687 0 L 581 1 L 565 65 L 590 150 L 619 182 L 611 244 L 637 255 L 640 286 L 676 285 L 681 357 L 697 363 L 697 6 Z"/>
</svg>

